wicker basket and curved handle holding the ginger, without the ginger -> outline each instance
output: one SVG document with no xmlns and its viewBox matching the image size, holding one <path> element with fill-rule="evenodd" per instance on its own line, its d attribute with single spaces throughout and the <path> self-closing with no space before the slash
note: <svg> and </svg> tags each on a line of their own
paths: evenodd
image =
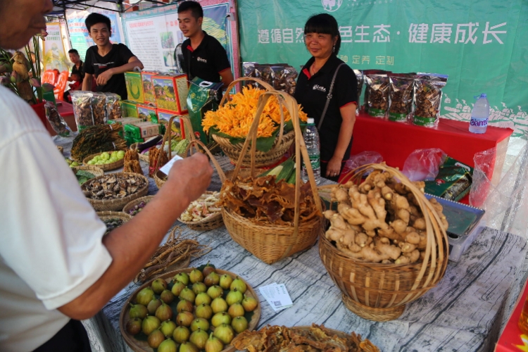
<svg viewBox="0 0 528 352">
<path fill-rule="evenodd" d="M 384 164 L 364 165 L 353 170 L 353 180 L 359 184 L 367 170 L 390 172 L 415 195 L 425 218 L 427 248 L 422 263 L 394 265 L 367 263 L 346 256 L 324 235 L 319 241 L 319 254 L 330 277 L 341 289 L 346 308 L 361 318 L 379 322 L 394 320 L 444 277 L 448 261 L 448 239 L 438 213 L 420 189 L 400 171 Z"/>
</svg>

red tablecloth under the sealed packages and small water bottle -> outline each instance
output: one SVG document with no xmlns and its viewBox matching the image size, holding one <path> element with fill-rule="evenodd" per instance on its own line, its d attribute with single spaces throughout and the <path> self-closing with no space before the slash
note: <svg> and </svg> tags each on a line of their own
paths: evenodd
<svg viewBox="0 0 528 352">
<path fill-rule="evenodd" d="M 377 151 L 387 165 L 402 169 L 415 149 L 439 148 L 451 158 L 473 167 L 475 153 L 497 146 L 513 133 L 509 128 L 491 126 L 484 134 L 474 134 L 468 129 L 469 122 L 444 118 L 438 127 L 426 128 L 360 113 L 354 125 L 351 154 Z"/>
</svg>

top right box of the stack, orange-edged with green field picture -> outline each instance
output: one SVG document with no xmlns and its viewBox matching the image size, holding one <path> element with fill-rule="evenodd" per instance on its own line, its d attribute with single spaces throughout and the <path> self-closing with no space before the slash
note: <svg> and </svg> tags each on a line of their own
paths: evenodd
<svg viewBox="0 0 528 352">
<path fill-rule="evenodd" d="M 158 108 L 175 111 L 178 115 L 187 113 L 189 83 L 187 75 L 158 75 L 151 78 Z"/>
</svg>

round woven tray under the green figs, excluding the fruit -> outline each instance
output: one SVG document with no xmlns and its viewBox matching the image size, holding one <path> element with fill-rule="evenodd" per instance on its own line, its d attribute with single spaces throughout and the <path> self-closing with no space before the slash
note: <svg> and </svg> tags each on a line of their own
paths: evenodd
<svg viewBox="0 0 528 352">
<path fill-rule="evenodd" d="M 146 341 L 140 341 L 138 339 L 135 339 L 125 329 L 125 326 L 127 325 L 127 321 L 129 320 L 128 312 L 130 310 L 130 303 L 134 302 L 137 293 L 139 291 L 141 291 L 142 289 L 144 289 L 145 287 L 149 287 L 151 285 L 151 282 L 153 282 L 154 279 L 162 278 L 162 279 L 165 279 L 165 281 L 170 282 L 172 277 L 177 275 L 179 272 L 187 272 L 187 274 L 189 274 L 189 272 L 191 272 L 192 270 L 194 270 L 194 268 L 175 270 L 175 271 L 172 271 L 172 272 L 167 272 L 167 273 L 165 273 L 165 274 L 163 274 L 161 276 L 158 276 L 156 278 L 153 278 L 153 279 L 149 280 L 148 282 L 146 282 L 145 284 L 142 284 L 142 286 L 139 287 L 136 291 L 134 291 L 132 296 L 130 296 L 130 298 L 127 299 L 127 301 L 123 305 L 123 308 L 121 309 L 121 314 L 119 316 L 119 328 L 121 330 L 121 334 L 122 334 L 123 339 L 125 340 L 127 345 L 130 346 L 130 348 L 132 348 L 132 351 L 134 351 L 134 352 L 144 352 L 144 351 L 153 352 L 154 351 L 153 348 L 151 348 L 149 346 L 149 344 L 147 344 Z M 234 274 L 233 272 L 229 272 L 229 271 L 226 271 L 226 270 L 217 269 L 216 272 L 217 272 L 218 275 L 229 274 L 233 278 L 238 276 L 237 274 Z M 239 278 L 242 279 L 241 277 L 239 277 Z M 246 282 L 246 280 L 244 280 L 244 279 L 242 279 L 242 280 L 246 283 L 246 286 L 247 286 L 246 296 L 256 298 L 256 300 L 259 301 L 259 298 L 258 298 L 256 292 L 253 290 L 253 288 L 251 286 L 249 286 L 249 284 Z M 175 299 L 175 302 L 177 302 L 177 298 Z M 173 304 L 174 304 L 174 302 L 171 304 L 171 306 Z M 173 310 L 175 310 L 175 308 L 173 308 Z M 251 317 L 251 321 L 248 322 L 248 330 L 249 331 L 252 331 L 252 330 L 254 330 L 257 327 L 258 320 L 260 320 L 260 310 L 261 310 L 261 307 L 260 307 L 260 301 L 259 301 L 257 308 L 255 310 L 253 310 L 253 316 Z M 233 352 L 233 351 L 236 351 L 236 349 L 233 346 L 226 346 L 226 348 L 224 348 L 222 350 L 222 352 Z"/>
</svg>

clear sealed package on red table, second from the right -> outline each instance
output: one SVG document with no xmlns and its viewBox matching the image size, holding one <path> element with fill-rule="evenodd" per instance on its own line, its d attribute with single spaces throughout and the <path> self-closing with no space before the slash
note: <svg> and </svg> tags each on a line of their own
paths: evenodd
<svg viewBox="0 0 528 352">
<path fill-rule="evenodd" d="M 396 122 L 407 122 L 412 118 L 414 78 L 408 75 L 389 74 L 389 112 L 387 118 Z"/>
</svg>

